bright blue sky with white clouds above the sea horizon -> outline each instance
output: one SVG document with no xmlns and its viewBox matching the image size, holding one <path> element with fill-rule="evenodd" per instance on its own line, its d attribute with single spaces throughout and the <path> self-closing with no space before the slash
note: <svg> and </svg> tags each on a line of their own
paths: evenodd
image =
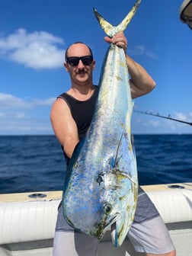
<svg viewBox="0 0 192 256">
<path fill-rule="evenodd" d="M 192 31 L 179 19 L 181 1 L 142 0 L 126 28 L 127 53 L 156 82 L 135 110 L 192 122 Z M 94 84 L 107 50 L 93 7 L 111 24 L 134 0 L 3 0 L 0 8 L 0 135 L 53 134 L 50 108 L 70 87 L 63 68 L 69 44 L 84 41 L 96 60 Z M 133 133 L 191 133 L 187 124 L 133 113 Z"/>
</svg>

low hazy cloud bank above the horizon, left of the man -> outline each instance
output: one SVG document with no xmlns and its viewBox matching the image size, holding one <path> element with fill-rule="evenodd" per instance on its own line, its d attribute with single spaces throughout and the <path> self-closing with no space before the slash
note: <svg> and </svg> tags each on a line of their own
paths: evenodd
<svg viewBox="0 0 192 256">
<path fill-rule="evenodd" d="M 50 107 L 55 98 L 24 100 L 0 93 L 0 135 L 50 134 Z"/>
</svg>

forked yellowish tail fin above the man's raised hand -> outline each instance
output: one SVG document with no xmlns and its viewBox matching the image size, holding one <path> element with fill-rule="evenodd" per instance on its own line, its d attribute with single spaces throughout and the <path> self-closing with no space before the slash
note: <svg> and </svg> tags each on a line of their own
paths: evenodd
<svg viewBox="0 0 192 256">
<path fill-rule="evenodd" d="M 98 19 L 99 24 L 101 25 L 102 29 L 104 32 L 107 34 L 108 37 L 113 37 L 114 34 L 117 34 L 120 31 L 126 30 L 127 25 L 130 23 L 132 20 L 134 14 L 136 14 L 137 8 L 140 5 L 141 0 L 136 0 L 135 5 L 133 5 L 133 8 L 131 11 L 126 14 L 126 18 L 121 21 L 119 25 L 116 27 L 112 26 L 108 21 L 106 21 L 101 14 L 98 13 L 98 11 L 94 8 L 94 15 Z"/>
</svg>

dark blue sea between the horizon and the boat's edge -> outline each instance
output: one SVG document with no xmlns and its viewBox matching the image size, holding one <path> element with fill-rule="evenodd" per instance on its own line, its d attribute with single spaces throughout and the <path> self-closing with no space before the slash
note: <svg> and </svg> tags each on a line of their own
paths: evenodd
<svg viewBox="0 0 192 256">
<path fill-rule="evenodd" d="M 135 135 L 139 184 L 192 181 L 192 134 Z M 0 194 L 62 190 L 66 165 L 55 136 L 0 136 Z"/>
</svg>

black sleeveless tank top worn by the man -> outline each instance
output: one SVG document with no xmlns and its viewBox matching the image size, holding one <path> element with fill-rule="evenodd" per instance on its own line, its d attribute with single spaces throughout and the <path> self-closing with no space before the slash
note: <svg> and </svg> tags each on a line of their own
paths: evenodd
<svg viewBox="0 0 192 256">
<path fill-rule="evenodd" d="M 59 95 L 58 98 L 62 98 L 68 104 L 69 109 L 72 113 L 72 117 L 75 120 L 75 123 L 78 127 L 78 139 L 83 139 L 85 133 L 88 130 L 88 127 L 90 126 L 94 114 L 94 106 L 98 98 L 98 86 L 94 85 L 94 93 L 91 95 L 91 98 L 89 98 L 87 101 L 78 101 L 66 92 Z M 64 155 L 66 158 L 66 164 L 68 165 L 69 158 L 67 157 L 65 152 Z"/>
</svg>

